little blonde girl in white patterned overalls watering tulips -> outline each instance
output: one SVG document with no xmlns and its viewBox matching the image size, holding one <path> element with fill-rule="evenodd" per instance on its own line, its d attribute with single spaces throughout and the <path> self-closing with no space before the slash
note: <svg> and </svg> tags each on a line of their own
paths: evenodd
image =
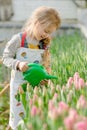
<svg viewBox="0 0 87 130">
<path fill-rule="evenodd" d="M 9 125 L 17 130 L 20 114 L 24 111 L 15 96 L 20 84 L 24 83 L 22 72 L 28 69 L 28 63 L 42 63 L 49 55 L 50 34 L 60 26 L 58 12 L 51 7 L 39 7 L 26 22 L 21 33 L 12 37 L 3 53 L 3 63 L 12 69 L 10 81 L 10 120 Z M 46 52 L 47 55 L 44 54 Z M 48 59 L 49 61 L 49 59 Z M 49 65 L 45 66 L 50 73 Z M 42 81 L 45 83 L 45 81 Z"/>
</svg>

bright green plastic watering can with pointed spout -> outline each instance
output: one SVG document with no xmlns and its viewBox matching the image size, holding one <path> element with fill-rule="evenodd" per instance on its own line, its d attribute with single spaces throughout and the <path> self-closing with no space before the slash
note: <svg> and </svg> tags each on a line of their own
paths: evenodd
<svg viewBox="0 0 87 130">
<path fill-rule="evenodd" d="M 44 79 L 57 79 L 56 76 L 49 75 L 41 64 L 30 63 L 28 66 L 29 69 L 23 72 L 23 77 L 32 87 L 39 85 L 40 81 Z"/>
</svg>

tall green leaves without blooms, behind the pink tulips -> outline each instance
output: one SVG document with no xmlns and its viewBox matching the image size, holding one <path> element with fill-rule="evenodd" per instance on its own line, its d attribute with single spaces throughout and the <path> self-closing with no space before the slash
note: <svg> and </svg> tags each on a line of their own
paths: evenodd
<svg viewBox="0 0 87 130">
<path fill-rule="evenodd" d="M 87 43 L 79 31 L 55 38 L 51 54 L 52 70 L 58 76 L 56 83 L 65 84 L 75 72 L 87 80 Z"/>
</svg>

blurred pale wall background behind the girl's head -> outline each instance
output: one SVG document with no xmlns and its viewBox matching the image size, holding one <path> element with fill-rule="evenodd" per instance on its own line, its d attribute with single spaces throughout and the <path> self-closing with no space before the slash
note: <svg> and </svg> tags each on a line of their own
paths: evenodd
<svg viewBox="0 0 87 130">
<path fill-rule="evenodd" d="M 0 42 L 19 32 L 39 6 L 56 8 L 64 24 L 80 22 L 87 25 L 87 0 L 0 0 Z"/>
</svg>

